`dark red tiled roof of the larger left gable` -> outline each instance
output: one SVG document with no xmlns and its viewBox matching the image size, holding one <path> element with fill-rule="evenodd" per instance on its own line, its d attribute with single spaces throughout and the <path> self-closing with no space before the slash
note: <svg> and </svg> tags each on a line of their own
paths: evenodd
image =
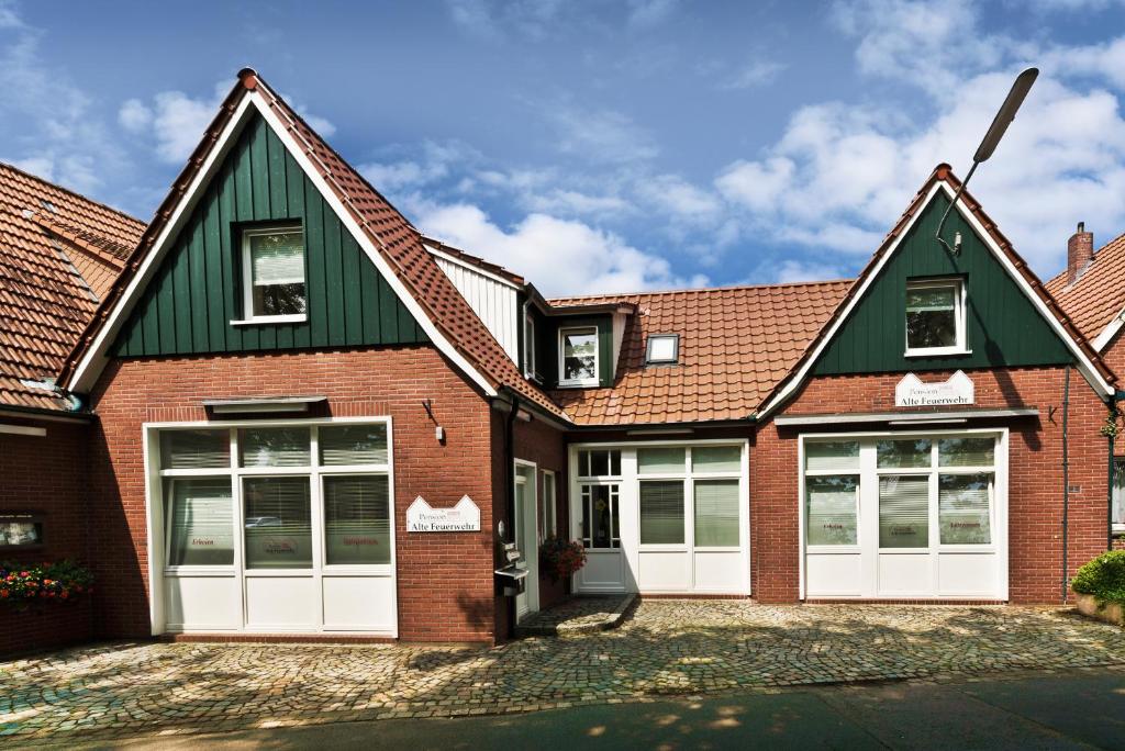
<svg viewBox="0 0 1125 751">
<path fill-rule="evenodd" d="M 102 306 L 107 314 L 118 306 L 122 293 L 141 268 L 141 261 L 152 250 L 180 203 L 184 198 L 189 198 L 186 194 L 188 188 L 218 143 L 240 102 L 255 93 L 262 97 L 266 106 L 281 120 L 288 136 L 298 142 L 302 153 L 320 172 L 316 177 L 327 183 L 344 210 L 351 214 L 382 260 L 392 268 L 398 281 L 460 356 L 478 369 L 494 388 L 507 388 L 548 413 L 565 417 L 543 391 L 523 378 L 516 364 L 457 291 L 452 281 L 438 266 L 431 253 L 425 250 L 422 236 L 410 221 L 333 151 L 254 71 L 249 69 L 240 71 L 238 82 L 220 106 L 218 115 L 204 134 L 169 196 L 156 210 L 152 224 L 129 260 L 127 270 L 110 289 Z M 98 322 L 104 318 L 99 316 Z M 62 379 L 65 382 L 69 383 L 74 377 L 75 369 L 88 354 L 101 325 L 91 323 L 79 346 L 68 356 L 62 371 Z M 102 343 L 102 346 L 106 346 L 106 343 Z"/>
</svg>

